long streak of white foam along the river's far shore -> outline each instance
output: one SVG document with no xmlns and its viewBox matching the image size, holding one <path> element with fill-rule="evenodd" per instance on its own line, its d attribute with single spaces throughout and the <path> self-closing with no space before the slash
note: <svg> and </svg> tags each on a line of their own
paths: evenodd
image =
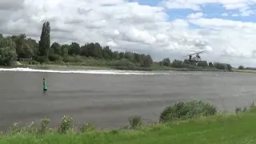
<svg viewBox="0 0 256 144">
<path fill-rule="evenodd" d="M 0 71 L 22 71 L 22 72 L 41 72 L 41 73 L 62 73 L 62 74 L 136 74 L 136 75 L 166 75 L 167 73 L 152 73 L 131 70 L 38 70 L 31 68 L 0 68 Z"/>
</svg>

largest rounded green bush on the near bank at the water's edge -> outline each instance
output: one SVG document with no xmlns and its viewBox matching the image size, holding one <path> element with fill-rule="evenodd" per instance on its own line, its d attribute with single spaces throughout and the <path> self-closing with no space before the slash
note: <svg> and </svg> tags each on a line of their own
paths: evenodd
<svg viewBox="0 0 256 144">
<path fill-rule="evenodd" d="M 190 101 L 177 102 L 174 106 L 168 106 L 160 115 L 160 122 L 173 122 L 200 116 L 210 116 L 217 113 L 215 106 L 208 102 Z"/>
</svg>

